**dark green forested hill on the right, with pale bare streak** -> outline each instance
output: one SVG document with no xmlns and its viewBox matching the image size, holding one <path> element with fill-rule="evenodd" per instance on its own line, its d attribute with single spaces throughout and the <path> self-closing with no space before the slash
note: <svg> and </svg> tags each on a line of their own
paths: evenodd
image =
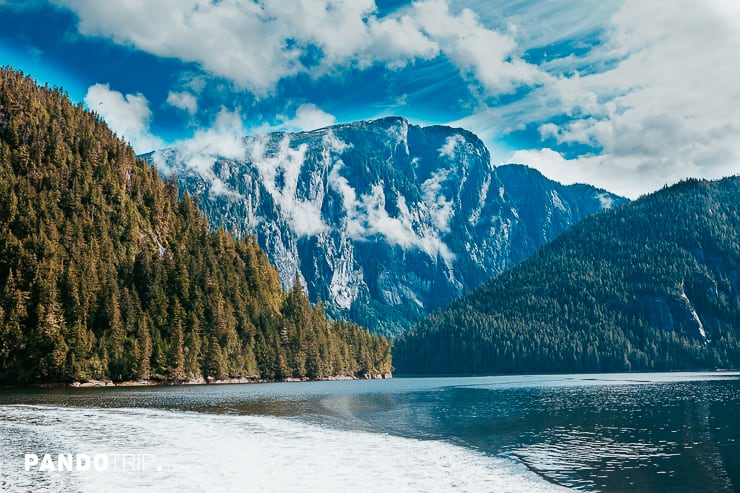
<svg viewBox="0 0 740 493">
<path fill-rule="evenodd" d="M 410 373 L 740 367 L 740 177 L 595 214 L 394 343 Z"/>
</svg>

